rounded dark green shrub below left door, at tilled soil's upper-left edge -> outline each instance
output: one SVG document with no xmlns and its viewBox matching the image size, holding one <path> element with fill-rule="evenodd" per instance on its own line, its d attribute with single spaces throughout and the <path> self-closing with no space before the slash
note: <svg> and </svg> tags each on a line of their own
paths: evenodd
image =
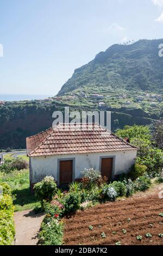
<svg viewBox="0 0 163 256">
<path fill-rule="evenodd" d="M 67 193 L 63 204 L 65 207 L 65 214 L 76 211 L 80 208 L 81 198 L 78 192 Z"/>
</svg>

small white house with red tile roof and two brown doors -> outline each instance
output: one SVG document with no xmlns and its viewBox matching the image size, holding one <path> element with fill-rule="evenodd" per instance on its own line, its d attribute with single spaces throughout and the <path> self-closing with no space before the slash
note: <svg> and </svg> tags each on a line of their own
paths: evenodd
<svg viewBox="0 0 163 256">
<path fill-rule="evenodd" d="M 99 124 L 59 124 L 27 138 L 30 185 L 52 175 L 58 185 L 82 178 L 84 168 L 113 180 L 135 163 L 137 148 Z"/>
</svg>

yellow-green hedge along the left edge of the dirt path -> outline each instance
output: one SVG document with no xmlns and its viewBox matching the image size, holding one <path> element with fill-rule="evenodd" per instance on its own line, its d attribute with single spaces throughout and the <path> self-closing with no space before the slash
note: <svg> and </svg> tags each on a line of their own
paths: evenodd
<svg viewBox="0 0 163 256">
<path fill-rule="evenodd" d="M 1 183 L 0 190 L 0 245 L 11 245 L 15 237 L 11 189 L 7 183 Z"/>
</svg>

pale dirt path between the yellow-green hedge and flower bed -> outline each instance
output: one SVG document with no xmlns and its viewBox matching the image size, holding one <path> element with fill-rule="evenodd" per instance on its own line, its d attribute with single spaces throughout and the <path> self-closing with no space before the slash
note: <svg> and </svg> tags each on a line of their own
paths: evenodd
<svg viewBox="0 0 163 256">
<path fill-rule="evenodd" d="M 32 210 L 15 212 L 15 245 L 36 245 L 38 241 L 37 233 L 40 229 L 43 217 L 43 214 L 35 215 Z"/>
</svg>

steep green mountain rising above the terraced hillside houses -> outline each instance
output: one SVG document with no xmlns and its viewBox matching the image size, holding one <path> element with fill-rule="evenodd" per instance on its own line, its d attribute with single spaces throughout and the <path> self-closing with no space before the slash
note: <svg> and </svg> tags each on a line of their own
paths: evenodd
<svg viewBox="0 0 163 256">
<path fill-rule="evenodd" d="M 108 87 L 163 92 L 163 57 L 160 40 L 139 40 L 130 45 L 112 45 L 97 54 L 90 63 L 74 71 L 58 96 L 83 87 Z"/>
</svg>

